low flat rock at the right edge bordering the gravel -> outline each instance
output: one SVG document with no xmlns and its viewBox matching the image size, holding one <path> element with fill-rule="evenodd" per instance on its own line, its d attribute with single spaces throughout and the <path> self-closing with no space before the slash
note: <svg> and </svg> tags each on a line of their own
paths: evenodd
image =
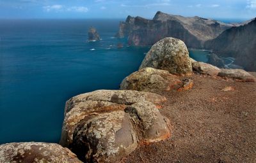
<svg viewBox="0 0 256 163">
<path fill-rule="evenodd" d="M 218 76 L 226 78 L 234 78 L 245 82 L 255 82 L 256 79 L 252 74 L 244 71 L 243 69 L 221 69 Z"/>
</svg>

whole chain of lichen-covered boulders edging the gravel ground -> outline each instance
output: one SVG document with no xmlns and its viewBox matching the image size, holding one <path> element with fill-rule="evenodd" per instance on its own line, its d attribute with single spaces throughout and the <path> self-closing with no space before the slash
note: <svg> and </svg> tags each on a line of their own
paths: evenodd
<svg viewBox="0 0 256 163">
<path fill-rule="evenodd" d="M 0 162 L 125 161 L 140 146 L 172 139 L 173 127 L 179 125 L 161 114 L 167 99 L 157 93 L 168 92 L 172 96 L 175 92 L 195 91 L 196 75 L 234 82 L 256 81 L 255 76 L 242 69 L 220 69 L 196 62 L 189 58 L 183 41 L 164 38 L 152 46 L 140 70 L 122 81 L 121 90 L 96 90 L 67 101 L 61 146 L 1 145 Z"/>
</svg>

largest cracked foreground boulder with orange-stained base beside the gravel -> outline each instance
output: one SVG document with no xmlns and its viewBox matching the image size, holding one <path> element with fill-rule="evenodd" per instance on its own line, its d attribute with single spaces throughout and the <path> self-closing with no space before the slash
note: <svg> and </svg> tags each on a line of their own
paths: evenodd
<svg viewBox="0 0 256 163">
<path fill-rule="evenodd" d="M 97 90 L 69 99 L 60 144 L 84 162 L 119 162 L 140 143 L 169 138 L 157 107 L 165 97 L 133 90 Z"/>
</svg>

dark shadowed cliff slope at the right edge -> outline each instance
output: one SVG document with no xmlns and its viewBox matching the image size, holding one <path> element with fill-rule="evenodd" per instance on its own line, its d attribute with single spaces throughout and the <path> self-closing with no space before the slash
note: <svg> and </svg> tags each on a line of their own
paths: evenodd
<svg viewBox="0 0 256 163">
<path fill-rule="evenodd" d="M 256 71 L 256 18 L 248 24 L 232 27 L 215 39 L 205 42 L 205 48 L 212 49 L 222 57 L 236 58 L 235 64 L 247 71 Z"/>
</svg>

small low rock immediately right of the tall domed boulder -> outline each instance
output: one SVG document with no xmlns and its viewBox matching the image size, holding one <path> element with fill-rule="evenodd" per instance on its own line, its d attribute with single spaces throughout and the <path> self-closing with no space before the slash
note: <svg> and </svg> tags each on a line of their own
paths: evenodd
<svg viewBox="0 0 256 163">
<path fill-rule="evenodd" d="M 211 64 L 206 64 L 204 62 L 193 62 L 193 71 L 196 71 L 200 74 L 209 74 L 211 76 L 217 75 L 221 69 Z"/>
</svg>

